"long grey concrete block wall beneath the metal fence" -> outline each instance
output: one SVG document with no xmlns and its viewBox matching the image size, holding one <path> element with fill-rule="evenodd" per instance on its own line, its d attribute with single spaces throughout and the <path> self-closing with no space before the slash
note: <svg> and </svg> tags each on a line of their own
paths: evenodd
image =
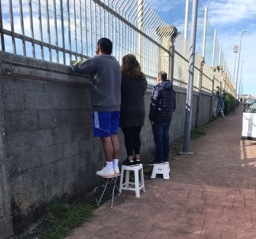
<svg viewBox="0 0 256 239">
<path fill-rule="evenodd" d="M 3 102 L 5 148 L 14 228 L 39 218 L 49 201 L 75 198 L 100 184 L 95 172 L 104 164 L 102 142 L 92 136 L 91 89 L 87 75 L 69 66 L 5 52 L 0 54 L 0 96 Z M 184 134 L 187 90 L 174 86 L 177 109 L 170 139 Z M 141 132 L 141 155 L 154 151 L 148 121 L 153 87 L 145 94 L 146 120 Z M 208 121 L 210 95 L 202 95 L 200 124 Z M 196 122 L 193 97 L 192 128 Z M 1 117 L 0 117 L 1 118 Z M 1 122 L 0 122 L 1 123 Z M 121 163 L 126 158 L 120 130 Z"/>
</svg>

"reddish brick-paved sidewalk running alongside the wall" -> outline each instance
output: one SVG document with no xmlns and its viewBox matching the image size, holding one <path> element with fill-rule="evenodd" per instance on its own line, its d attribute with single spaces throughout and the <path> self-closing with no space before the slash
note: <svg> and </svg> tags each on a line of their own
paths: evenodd
<svg viewBox="0 0 256 239">
<path fill-rule="evenodd" d="M 242 141 L 242 106 L 170 163 L 170 180 L 124 192 L 68 238 L 256 238 L 256 141 Z"/>
</svg>

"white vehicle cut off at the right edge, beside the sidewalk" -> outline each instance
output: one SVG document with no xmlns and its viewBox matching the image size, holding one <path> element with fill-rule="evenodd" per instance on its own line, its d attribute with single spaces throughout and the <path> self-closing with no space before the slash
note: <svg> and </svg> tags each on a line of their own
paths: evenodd
<svg viewBox="0 0 256 239">
<path fill-rule="evenodd" d="M 244 102 L 242 139 L 256 140 L 256 99 Z"/>
</svg>

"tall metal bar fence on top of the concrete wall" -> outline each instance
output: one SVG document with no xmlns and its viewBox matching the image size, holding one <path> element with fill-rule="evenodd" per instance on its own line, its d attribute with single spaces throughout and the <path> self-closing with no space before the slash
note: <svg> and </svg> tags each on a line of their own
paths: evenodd
<svg viewBox="0 0 256 239">
<path fill-rule="evenodd" d="M 203 41 L 202 10 L 199 17 L 197 39 Z M 123 55 L 134 54 L 152 84 L 158 71 L 169 70 L 170 31 L 147 0 L 0 0 L 2 51 L 69 65 L 73 59 L 92 57 L 98 39 L 107 37 L 118 61 L 122 62 Z M 190 44 L 179 33 L 174 46 L 174 83 L 187 86 Z M 205 49 L 207 46 L 212 46 L 210 39 Z M 223 53 L 218 47 L 217 43 L 214 61 L 219 63 Z M 195 70 L 195 89 L 199 70 Z M 212 92 L 208 78 L 202 86 Z"/>
</svg>

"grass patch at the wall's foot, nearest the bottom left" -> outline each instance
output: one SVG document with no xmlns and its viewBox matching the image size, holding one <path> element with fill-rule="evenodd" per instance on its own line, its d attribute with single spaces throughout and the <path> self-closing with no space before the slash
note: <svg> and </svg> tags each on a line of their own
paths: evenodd
<svg viewBox="0 0 256 239">
<path fill-rule="evenodd" d="M 117 182 L 119 184 L 119 182 Z M 94 217 L 94 210 L 98 208 L 98 201 L 104 185 L 100 185 L 91 194 L 80 195 L 76 201 L 59 200 L 46 206 L 45 219 L 40 226 L 26 235 L 15 239 L 62 239 L 73 232 L 77 226 L 88 222 Z M 111 197 L 113 185 L 108 184 L 100 205 Z M 115 195 L 117 192 L 115 192 Z"/>
</svg>

